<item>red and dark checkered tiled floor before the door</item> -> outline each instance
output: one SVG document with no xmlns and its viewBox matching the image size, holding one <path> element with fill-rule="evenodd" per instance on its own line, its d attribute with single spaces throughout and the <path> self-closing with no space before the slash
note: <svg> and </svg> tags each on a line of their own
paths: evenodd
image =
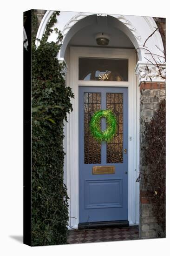
<svg viewBox="0 0 170 256">
<path fill-rule="evenodd" d="M 96 243 L 135 240 L 138 238 L 138 227 L 69 230 L 68 243 Z"/>
</svg>

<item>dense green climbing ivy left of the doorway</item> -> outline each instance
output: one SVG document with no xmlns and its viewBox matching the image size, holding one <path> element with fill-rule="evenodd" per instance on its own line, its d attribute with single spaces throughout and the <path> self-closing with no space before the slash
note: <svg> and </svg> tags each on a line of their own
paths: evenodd
<svg viewBox="0 0 170 256">
<path fill-rule="evenodd" d="M 32 13 L 32 25 L 36 17 Z M 63 179 L 63 127 L 72 111 L 71 88 L 65 86 L 65 64 L 56 58 L 62 34 L 47 42 L 57 22 L 54 12 L 35 47 L 32 37 L 32 245 L 67 243 L 68 195 Z"/>
</svg>

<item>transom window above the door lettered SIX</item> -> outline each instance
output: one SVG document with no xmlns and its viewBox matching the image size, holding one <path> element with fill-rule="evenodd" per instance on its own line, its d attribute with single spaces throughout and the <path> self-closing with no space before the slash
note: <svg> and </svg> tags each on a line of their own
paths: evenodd
<svg viewBox="0 0 170 256">
<path fill-rule="evenodd" d="M 79 58 L 79 80 L 128 81 L 128 60 Z"/>
</svg>

